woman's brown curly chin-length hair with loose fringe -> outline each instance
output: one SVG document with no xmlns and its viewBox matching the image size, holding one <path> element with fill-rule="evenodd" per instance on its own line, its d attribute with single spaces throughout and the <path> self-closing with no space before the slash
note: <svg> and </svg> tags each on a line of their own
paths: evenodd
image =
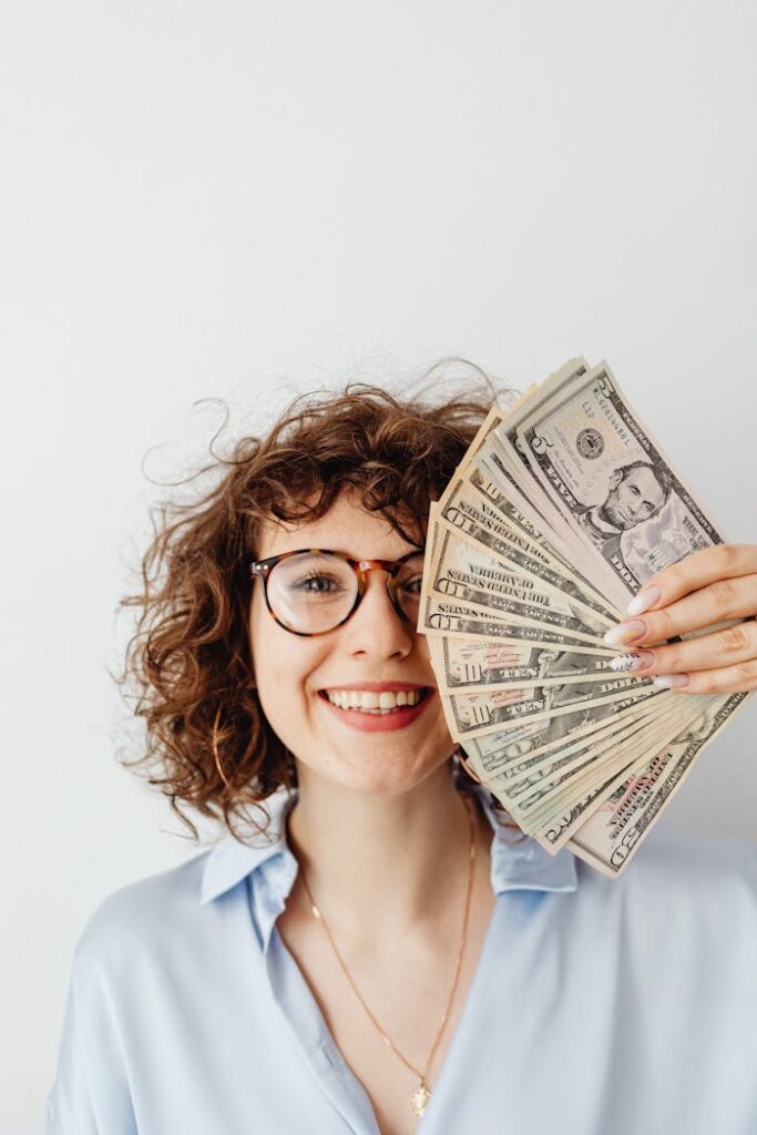
<svg viewBox="0 0 757 1135">
<path fill-rule="evenodd" d="M 462 393 L 439 398 L 440 370 L 476 372 Z M 146 728 L 146 750 L 127 766 L 148 781 L 197 840 L 183 805 L 222 819 L 238 840 L 239 821 L 277 788 L 296 787 L 293 755 L 274 732 L 251 684 L 250 557 L 260 521 L 322 516 L 345 489 L 386 515 L 412 544 L 426 538 L 429 501 L 438 499 L 493 403 L 506 388 L 469 360 L 446 358 L 415 393 L 347 382 L 301 394 L 263 437 L 244 436 L 226 455 L 211 445 L 212 488 L 191 502 L 152 511 L 153 537 L 141 564 L 136 629 L 118 682 Z M 269 819 L 264 808 L 266 822 Z M 253 824 L 254 831 L 264 824 Z"/>
</svg>

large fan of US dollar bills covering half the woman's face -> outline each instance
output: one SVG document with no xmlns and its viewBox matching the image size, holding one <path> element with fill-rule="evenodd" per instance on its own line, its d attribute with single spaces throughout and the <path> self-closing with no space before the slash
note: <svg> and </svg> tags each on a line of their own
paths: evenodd
<svg viewBox="0 0 757 1135">
<path fill-rule="evenodd" d="M 723 543 L 605 362 L 493 407 L 430 506 L 419 630 L 469 771 L 548 851 L 612 877 L 746 693 L 632 678 L 605 631 Z"/>
</svg>

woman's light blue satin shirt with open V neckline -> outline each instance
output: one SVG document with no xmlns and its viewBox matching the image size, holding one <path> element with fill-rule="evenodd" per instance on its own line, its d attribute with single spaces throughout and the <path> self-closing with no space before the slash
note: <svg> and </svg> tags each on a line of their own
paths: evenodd
<svg viewBox="0 0 757 1135">
<path fill-rule="evenodd" d="M 420 1135 L 755 1135 L 757 847 L 663 823 L 611 881 L 474 791 L 496 903 Z M 294 800 L 95 909 L 48 1135 L 378 1135 L 276 927 Z"/>
</svg>

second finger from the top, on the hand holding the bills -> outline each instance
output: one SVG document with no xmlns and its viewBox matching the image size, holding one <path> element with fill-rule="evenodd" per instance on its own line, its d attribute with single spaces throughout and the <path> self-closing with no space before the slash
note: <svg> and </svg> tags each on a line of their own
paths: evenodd
<svg viewBox="0 0 757 1135">
<path fill-rule="evenodd" d="M 639 592 L 640 594 L 640 592 Z M 613 627 L 605 634 L 609 646 L 642 646 L 746 619 L 757 611 L 757 574 L 718 579 L 683 598 L 644 616 Z"/>
</svg>

